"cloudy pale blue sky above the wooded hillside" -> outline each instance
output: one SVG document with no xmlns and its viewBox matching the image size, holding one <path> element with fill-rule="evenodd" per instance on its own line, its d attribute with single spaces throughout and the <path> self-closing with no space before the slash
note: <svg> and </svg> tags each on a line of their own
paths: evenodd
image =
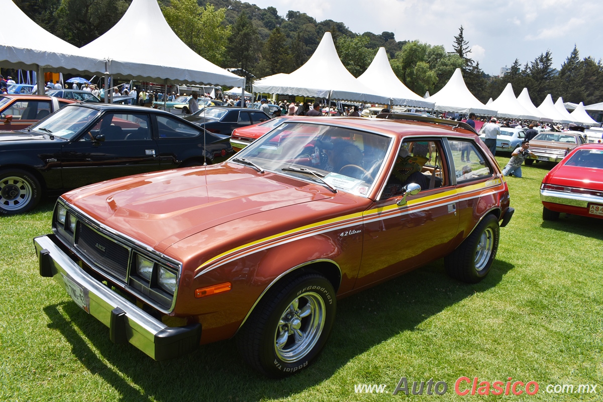
<svg viewBox="0 0 603 402">
<path fill-rule="evenodd" d="M 247 0 L 275 7 L 280 16 L 301 11 L 317 21 L 343 22 L 357 34 L 394 32 L 396 40 L 419 40 L 452 51 L 463 25 L 469 55 L 485 73 L 523 65 L 550 49 L 557 69 L 578 47 L 581 58 L 603 57 L 601 0 Z"/>
</svg>

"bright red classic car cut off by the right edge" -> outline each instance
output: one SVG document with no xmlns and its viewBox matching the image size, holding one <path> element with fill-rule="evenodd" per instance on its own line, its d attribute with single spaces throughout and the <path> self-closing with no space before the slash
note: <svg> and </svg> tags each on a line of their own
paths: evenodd
<svg viewBox="0 0 603 402">
<path fill-rule="evenodd" d="M 544 220 L 560 212 L 603 218 L 603 144 L 573 149 L 542 179 L 540 200 Z"/>
</svg>

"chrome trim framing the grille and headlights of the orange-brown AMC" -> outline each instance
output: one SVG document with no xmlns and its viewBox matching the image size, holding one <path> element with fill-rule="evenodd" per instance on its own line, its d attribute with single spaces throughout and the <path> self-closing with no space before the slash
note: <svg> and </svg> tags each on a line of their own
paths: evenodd
<svg viewBox="0 0 603 402">
<path fill-rule="evenodd" d="M 169 314 L 170 312 L 172 312 L 174 310 L 175 305 L 176 305 L 176 298 L 178 295 L 178 288 L 180 285 L 180 277 L 182 277 L 182 262 L 176 261 L 175 259 L 168 257 L 168 256 L 164 255 L 163 253 L 159 253 L 156 250 L 154 250 L 153 247 L 148 246 L 147 244 L 141 243 L 140 241 L 134 240 L 133 238 L 131 238 L 127 235 L 124 235 L 123 233 L 118 232 L 117 230 L 112 229 L 109 226 L 90 218 L 80 208 L 77 208 L 77 206 L 71 205 L 70 203 L 66 202 L 61 197 L 57 200 L 57 204 L 63 205 L 67 209 L 68 212 L 71 212 L 73 215 L 75 215 L 77 220 L 81 221 L 82 224 L 86 224 L 87 226 L 89 226 L 90 229 L 94 230 L 99 235 L 102 235 L 103 237 L 105 237 L 111 241 L 115 241 L 115 243 L 118 243 L 120 246 L 126 247 L 129 250 L 126 282 L 124 283 L 124 280 L 122 280 L 121 278 L 115 277 L 112 274 L 108 273 L 104 268 L 99 268 L 98 264 L 96 264 L 96 262 L 90 261 L 90 259 L 87 258 L 83 252 L 81 252 L 81 249 L 79 247 L 75 247 L 75 233 L 74 233 L 73 243 L 68 244 L 68 247 L 69 247 L 69 249 L 71 249 L 72 252 L 74 252 L 78 256 L 78 258 L 80 258 L 82 261 L 86 262 L 86 264 L 89 265 L 89 267 L 92 268 L 96 273 L 109 277 L 108 279 L 112 280 L 113 282 L 121 284 L 123 286 L 124 291 L 128 292 L 128 294 L 131 294 L 134 297 L 144 300 L 145 303 L 152 306 L 154 309 L 157 309 L 157 311 L 160 311 L 165 314 Z M 55 209 L 56 209 L 56 207 L 55 207 Z M 54 214 L 53 214 L 53 216 L 54 216 Z M 54 221 L 53 221 L 53 224 L 54 224 Z M 62 236 L 60 238 L 63 239 Z M 172 305 L 169 306 L 168 309 L 166 309 L 162 305 L 159 305 L 159 303 L 157 301 L 153 300 L 152 298 L 148 297 L 147 295 L 142 294 L 141 292 L 137 291 L 133 286 L 131 286 L 129 284 L 130 274 L 131 274 L 130 268 L 133 264 L 134 253 L 139 253 L 143 256 L 146 253 L 147 256 L 149 258 L 153 259 L 155 262 L 159 262 L 159 264 L 167 265 L 168 267 L 171 267 L 177 271 L 176 289 L 174 292 L 174 296 L 172 297 Z M 92 262 L 92 264 L 90 264 L 90 262 Z"/>
</svg>

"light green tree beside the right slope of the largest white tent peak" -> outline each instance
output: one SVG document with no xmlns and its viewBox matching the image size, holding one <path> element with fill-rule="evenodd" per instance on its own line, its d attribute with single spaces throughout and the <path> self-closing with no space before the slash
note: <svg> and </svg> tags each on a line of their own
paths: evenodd
<svg viewBox="0 0 603 402">
<path fill-rule="evenodd" d="M 197 54 L 221 64 L 230 36 L 230 26 L 224 24 L 226 10 L 216 10 L 212 4 L 199 7 L 196 0 L 172 0 L 171 4 L 162 11 L 175 34 Z"/>
</svg>

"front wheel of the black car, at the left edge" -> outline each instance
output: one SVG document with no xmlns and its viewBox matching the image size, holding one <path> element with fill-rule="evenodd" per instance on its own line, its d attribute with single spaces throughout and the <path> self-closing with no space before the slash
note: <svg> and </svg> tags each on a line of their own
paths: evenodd
<svg viewBox="0 0 603 402">
<path fill-rule="evenodd" d="M 21 169 L 0 170 L 0 215 L 22 214 L 42 198 L 42 187 L 34 175 Z"/>
</svg>

